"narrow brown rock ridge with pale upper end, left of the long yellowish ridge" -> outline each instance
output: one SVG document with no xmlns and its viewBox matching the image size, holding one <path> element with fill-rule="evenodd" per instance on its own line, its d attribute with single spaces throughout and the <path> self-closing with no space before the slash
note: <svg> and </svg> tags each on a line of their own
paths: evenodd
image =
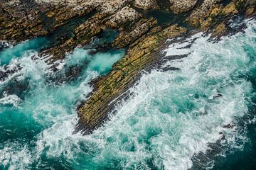
<svg viewBox="0 0 256 170">
<path fill-rule="evenodd" d="M 41 52 L 40 55 L 52 56 L 48 60 L 49 63 L 53 63 L 56 60 L 63 60 L 66 52 L 72 52 L 76 46 L 82 47 L 86 45 L 90 42 L 92 37 L 99 35 L 102 30 L 105 30 L 107 27 L 122 28 L 127 26 L 127 28 L 129 28 L 129 25 L 131 26 L 141 17 L 141 14 L 127 6 L 113 15 L 111 15 L 111 13 L 96 13 L 85 21 L 85 23 L 82 23 L 80 26 L 75 28 L 75 35 L 73 38 L 66 40 L 61 45 L 57 45 L 49 50 Z M 123 28 L 123 30 L 125 29 L 126 28 Z"/>
</svg>

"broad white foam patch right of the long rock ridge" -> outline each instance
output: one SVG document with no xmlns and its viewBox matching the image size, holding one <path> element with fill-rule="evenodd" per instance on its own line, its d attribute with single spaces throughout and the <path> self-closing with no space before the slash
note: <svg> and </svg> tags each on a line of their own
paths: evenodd
<svg viewBox="0 0 256 170">
<path fill-rule="evenodd" d="M 223 127 L 247 113 L 245 96 L 251 93 L 252 86 L 245 79 L 230 77 L 238 70 L 246 72 L 250 64 L 242 48 L 243 44 L 255 46 L 255 32 L 248 25 L 245 34 L 218 43 L 208 42 L 208 37 L 200 33 L 194 35 L 197 39 L 188 49 L 181 47 L 186 47 L 189 40 L 171 45 L 166 55 L 188 54 L 166 64 L 180 70 L 144 74 L 139 85 L 131 89 L 136 96 L 122 103 L 117 115 L 92 134 L 102 146 L 95 162 L 104 164 L 118 157 L 124 169 L 136 164 L 148 169 L 146 160 L 153 159 L 159 169 L 189 169 L 193 154 L 206 152 L 209 143 L 223 136 L 219 132 L 225 135 L 223 144 L 242 149 L 239 142 L 246 142 L 245 136 L 235 128 Z M 252 26 L 255 28 L 255 23 Z M 216 89 L 223 96 L 213 99 Z M 193 97 L 197 93 L 199 96 Z M 154 131 L 156 135 L 147 135 Z M 112 142 L 107 142 L 109 138 Z M 149 140 L 150 151 L 143 139 Z M 133 152 L 127 150 L 131 146 Z M 206 164 L 212 167 L 213 160 Z"/>
</svg>

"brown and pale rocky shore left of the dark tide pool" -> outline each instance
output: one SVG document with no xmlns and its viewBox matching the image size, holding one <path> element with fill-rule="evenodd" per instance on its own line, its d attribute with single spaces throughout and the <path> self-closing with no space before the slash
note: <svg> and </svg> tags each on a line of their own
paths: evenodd
<svg viewBox="0 0 256 170">
<path fill-rule="evenodd" d="M 13 8 L 14 4 L 18 6 L 17 9 Z M 127 0 L 42 0 L 28 4 L 17 0 L 1 4 L 0 40 L 21 42 L 63 31 L 63 35 L 54 35 L 60 37 L 55 40 L 56 45 L 40 53 L 40 56 L 48 57 L 48 63 L 63 60 L 67 52 L 72 52 L 77 46 L 86 45 L 92 37 L 100 35 L 105 28 L 119 29 L 122 34 L 133 31 L 130 33 L 130 40 L 127 41 L 132 43 L 146 33 L 144 27 L 148 27 L 146 23 L 137 23 L 142 18 L 142 14 L 126 6 Z M 90 16 L 93 13 L 94 15 Z M 77 18 L 81 18 L 79 22 L 74 22 L 65 28 Z M 132 28 L 135 23 L 139 28 L 143 28 L 142 31 Z M 140 26 L 140 23 L 144 26 Z"/>
</svg>

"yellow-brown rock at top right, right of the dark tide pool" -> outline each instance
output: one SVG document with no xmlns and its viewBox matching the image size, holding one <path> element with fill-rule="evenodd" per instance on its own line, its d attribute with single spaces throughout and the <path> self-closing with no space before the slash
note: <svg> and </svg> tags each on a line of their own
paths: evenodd
<svg viewBox="0 0 256 170">
<path fill-rule="evenodd" d="M 223 24 L 228 22 L 232 16 L 238 13 L 244 13 L 248 6 L 248 1 L 233 0 L 226 5 L 218 4 L 220 1 L 221 0 L 203 1 L 203 4 L 194 9 L 191 16 L 186 18 L 186 22 L 190 23 L 191 26 L 201 28 L 201 30 L 213 32 L 213 36 L 225 35 L 229 29 L 225 28 Z M 253 6 L 255 6 L 255 4 Z M 220 33 L 223 31 L 226 33 Z"/>
</svg>

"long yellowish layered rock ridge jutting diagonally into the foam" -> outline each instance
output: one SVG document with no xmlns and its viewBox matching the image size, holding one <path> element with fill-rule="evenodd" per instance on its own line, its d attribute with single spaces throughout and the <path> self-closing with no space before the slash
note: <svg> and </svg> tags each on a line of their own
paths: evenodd
<svg viewBox="0 0 256 170">
<path fill-rule="evenodd" d="M 129 47 L 129 52 L 117 64 L 113 71 L 94 84 L 95 92 L 78 109 L 80 125 L 85 134 L 102 125 L 107 113 L 112 109 L 113 100 L 126 91 L 137 80 L 140 72 L 157 60 L 156 52 L 161 49 L 167 38 L 175 38 L 186 33 L 186 28 L 175 25 L 164 30 L 152 29 Z"/>
</svg>

